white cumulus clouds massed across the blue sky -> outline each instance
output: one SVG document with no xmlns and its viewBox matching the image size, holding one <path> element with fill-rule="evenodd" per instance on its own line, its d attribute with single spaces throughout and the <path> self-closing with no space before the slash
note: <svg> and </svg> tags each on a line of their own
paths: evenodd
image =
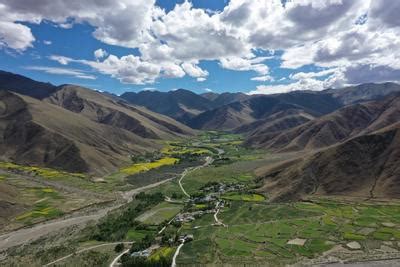
<svg viewBox="0 0 400 267">
<path fill-rule="evenodd" d="M 254 72 L 268 82 L 254 92 L 320 90 L 362 82 L 399 81 L 400 1 L 393 0 L 231 0 L 222 11 L 195 8 L 189 1 L 170 11 L 155 0 L 2 0 L 0 48 L 23 52 L 34 47 L 28 23 L 50 21 L 58 27 L 88 23 L 99 41 L 136 48 L 135 55 L 94 60 L 51 56 L 61 65 L 90 66 L 123 83 L 154 83 L 185 75 L 203 81 L 201 63 L 217 61 L 233 71 Z M 279 51 L 280 66 L 293 74 L 274 79 L 269 57 Z M 304 72 L 303 66 L 321 71 Z"/>
</svg>

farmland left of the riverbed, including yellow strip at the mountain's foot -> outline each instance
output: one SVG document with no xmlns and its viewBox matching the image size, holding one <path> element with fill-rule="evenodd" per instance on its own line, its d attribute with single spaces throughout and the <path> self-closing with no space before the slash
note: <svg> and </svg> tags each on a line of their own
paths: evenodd
<svg viewBox="0 0 400 267">
<path fill-rule="evenodd" d="M 108 203 L 115 196 L 109 184 L 97 183 L 88 175 L 0 162 L 0 203 L 11 206 L 3 213 L 0 228 L 10 231 L 54 219 L 95 204 Z"/>
</svg>

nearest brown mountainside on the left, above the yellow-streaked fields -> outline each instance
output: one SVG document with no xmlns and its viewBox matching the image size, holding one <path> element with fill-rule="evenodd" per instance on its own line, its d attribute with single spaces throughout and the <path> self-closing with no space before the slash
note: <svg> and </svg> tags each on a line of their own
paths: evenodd
<svg viewBox="0 0 400 267">
<path fill-rule="evenodd" d="M 0 136 L 1 160 L 97 174 L 158 148 L 127 130 L 7 91 L 0 92 Z"/>
</svg>

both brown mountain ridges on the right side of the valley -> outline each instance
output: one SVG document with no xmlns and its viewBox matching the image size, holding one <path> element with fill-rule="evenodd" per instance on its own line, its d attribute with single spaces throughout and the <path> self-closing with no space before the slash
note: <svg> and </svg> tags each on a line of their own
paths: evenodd
<svg viewBox="0 0 400 267">
<path fill-rule="evenodd" d="M 270 147 L 303 152 L 261 171 L 272 199 L 399 197 L 400 94 L 346 106 L 282 133 Z"/>
</svg>

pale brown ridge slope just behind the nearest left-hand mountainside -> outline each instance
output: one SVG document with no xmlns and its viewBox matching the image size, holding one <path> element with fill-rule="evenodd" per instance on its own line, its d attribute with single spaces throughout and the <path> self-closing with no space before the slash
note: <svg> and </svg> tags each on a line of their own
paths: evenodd
<svg viewBox="0 0 400 267">
<path fill-rule="evenodd" d="M 169 117 L 79 86 L 61 86 L 44 101 L 79 113 L 92 121 L 122 128 L 144 138 L 174 139 L 194 133 L 189 127 Z"/>
</svg>

